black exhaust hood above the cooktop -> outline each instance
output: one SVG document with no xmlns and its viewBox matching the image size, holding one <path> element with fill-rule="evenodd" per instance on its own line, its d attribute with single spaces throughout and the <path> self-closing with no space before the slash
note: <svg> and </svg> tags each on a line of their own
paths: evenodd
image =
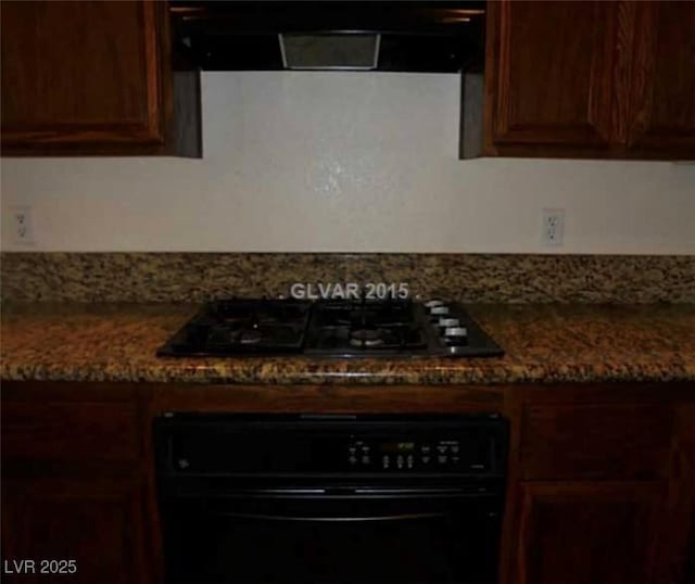
<svg viewBox="0 0 695 584">
<path fill-rule="evenodd" d="M 484 1 L 173 0 L 174 55 L 205 71 L 480 72 Z"/>
</svg>

